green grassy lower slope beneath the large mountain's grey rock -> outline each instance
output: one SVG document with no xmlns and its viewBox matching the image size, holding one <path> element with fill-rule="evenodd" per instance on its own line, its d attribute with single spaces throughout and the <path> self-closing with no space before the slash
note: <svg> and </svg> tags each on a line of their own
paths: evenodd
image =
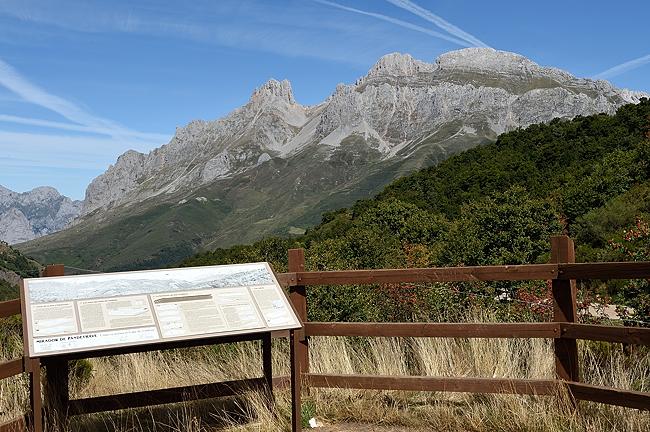
<svg viewBox="0 0 650 432">
<path fill-rule="evenodd" d="M 350 139 L 333 154 L 304 152 L 289 160 L 274 159 L 190 196 L 120 207 L 101 219 L 83 221 L 19 247 L 41 262 L 81 268 L 165 266 L 197 250 L 309 228 L 324 211 L 372 196 L 422 164 L 437 163 L 454 149 L 483 142 L 471 138 L 448 143 L 448 148 L 427 145 L 405 161 L 382 162 L 365 143 Z M 207 201 L 199 202 L 196 197 Z M 179 205 L 182 199 L 187 203 Z"/>
</svg>

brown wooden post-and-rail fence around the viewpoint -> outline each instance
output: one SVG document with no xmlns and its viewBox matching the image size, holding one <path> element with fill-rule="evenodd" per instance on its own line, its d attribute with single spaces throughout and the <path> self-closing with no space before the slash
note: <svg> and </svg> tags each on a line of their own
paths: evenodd
<svg viewBox="0 0 650 432">
<path fill-rule="evenodd" d="M 371 390 L 449 391 L 554 395 L 564 386 L 574 400 L 588 400 L 643 410 L 650 409 L 650 393 L 594 386 L 580 382 L 577 339 L 650 345 L 650 328 L 578 324 L 576 280 L 650 279 L 650 262 L 575 264 L 573 242 L 566 236 L 553 237 L 551 263 L 484 267 L 420 268 L 396 270 L 305 271 L 302 249 L 289 251 L 289 271 L 278 280 L 290 292 L 291 301 L 304 321 L 303 330 L 290 339 L 292 349 L 292 429 L 300 430 L 302 385 L 321 388 Z M 552 281 L 553 322 L 545 323 L 340 323 L 307 320 L 307 287 L 315 285 L 363 285 L 386 283 L 434 283 L 455 281 Z M 333 288 L 335 289 L 335 288 Z M 0 317 L 20 313 L 20 301 L 0 303 Z M 377 376 L 315 374 L 309 368 L 309 338 L 313 336 L 444 337 L 444 338 L 548 338 L 553 339 L 556 379 L 448 378 L 424 376 Z M 26 358 L 26 357 L 25 357 Z M 36 369 L 36 370 L 32 370 Z M 40 385 L 40 368 L 23 359 L 0 364 L 0 379 L 30 373 L 32 394 Z M 289 377 L 277 380 L 287 382 Z M 32 401 L 34 401 L 32 397 Z M 39 393 L 40 399 L 40 393 Z M 98 398 L 106 406 L 110 400 Z M 36 404 L 36 405 L 35 405 Z M 32 402 L 40 412 L 40 400 Z M 34 416 L 32 416 L 34 418 Z M 34 421 L 40 421 L 35 416 Z M 0 432 L 23 431 L 20 418 L 0 425 Z"/>
</svg>

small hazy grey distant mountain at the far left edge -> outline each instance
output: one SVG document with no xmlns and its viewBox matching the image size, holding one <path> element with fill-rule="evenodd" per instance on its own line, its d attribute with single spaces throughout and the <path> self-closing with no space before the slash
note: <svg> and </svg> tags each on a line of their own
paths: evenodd
<svg viewBox="0 0 650 432">
<path fill-rule="evenodd" d="M 81 201 L 52 187 L 17 193 L 0 185 L 0 240 L 14 244 L 59 231 L 79 216 L 81 208 Z"/>
</svg>

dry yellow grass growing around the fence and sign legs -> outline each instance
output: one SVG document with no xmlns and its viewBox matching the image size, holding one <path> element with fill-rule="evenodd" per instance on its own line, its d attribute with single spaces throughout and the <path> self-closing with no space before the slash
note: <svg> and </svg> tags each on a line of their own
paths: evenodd
<svg viewBox="0 0 650 432">
<path fill-rule="evenodd" d="M 288 374 L 288 348 L 275 341 L 274 371 Z M 629 356 L 620 345 L 582 344 L 584 381 L 650 391 L 648 351 Z M 552 378 L 549 340 L 313 338 L 312 371 L 383 375 Z M 147 353 L 95 359 L 93 377 L 74 390 L 90 397 L 261 375 L 259 344 L 215 349 Z M 0 385 L 0 421 L 26 405 L 24 378 Z M 463 393 L 409 393 L 312 389 L 304 413 L 325 423 L 360 422 L 440 431 L 647 431 L 650 414 L 633 409 L 581 403 L 571 413 L 562 395 L 530 397 Z M 277 432 L 289 429 L 287 391 L 276 392 L 271 412 L 262 395 L 251 393 L 227 402 L 82 416 L 71 431 Z"/>
</svg>

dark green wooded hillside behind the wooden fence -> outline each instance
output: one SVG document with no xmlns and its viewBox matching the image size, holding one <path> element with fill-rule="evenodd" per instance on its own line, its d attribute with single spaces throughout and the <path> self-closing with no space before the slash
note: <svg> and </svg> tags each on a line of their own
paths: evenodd
<svg viewBox="0 0 650 432">
<path fill-rule="evenodd" d="M 399 179 L 372 199 L 325 213 L 303 236 L 217 249 L 182 264 L 264 260 L 284 270 L 290 247 L 306 249 L 311 269 L 534 263 L 548 260 L 549 236 L 562 232 L 576 240 L 579 261 L 630 260 L 647 251 L 647 241 L 644 246 L 627 233 L 650 220 L 649 197 L 650 101 L 644 99 L 613 116 L 503 134 Z M 627 303 L 637 308 L 636 318 L 647 318 L 647 295 L 639 295 L 647 285 L 589 288 L 585 301 Z M 310 313 L 314 319 L 431 318 L 450 302 L 543 299 L 546 291 L 539 284 L 478 283 L 412 294 L 404 286 L 323 288 L 310 292 Z"/>
</svg>

